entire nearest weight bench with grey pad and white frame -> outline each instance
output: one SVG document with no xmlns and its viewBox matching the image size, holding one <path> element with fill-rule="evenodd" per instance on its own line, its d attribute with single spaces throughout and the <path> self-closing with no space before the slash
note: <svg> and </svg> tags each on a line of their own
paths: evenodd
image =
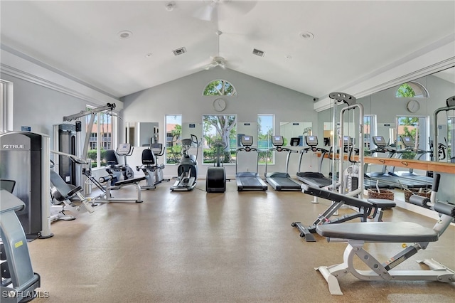
<svg viewBox="0 0 455 303">
<path fill-rule="evenodd" d="M 440 175 L 435 176 L 434 183 L 439 182 Z M 436 180 L 437 179 L 437 180 Z M 433 188 L 437 186 L 433 185 Z M 429 208 L 439 213 L 439 220 L 433 228 L 426 228 L 412 222 L 370 222 L 346 223 L 340 225 L 319 225 L 317 233 L 327 237 L 328 242 L 348 242 L 343 254 L 343 263 L 331 266 L 316 267 L 328 283 L 331 294 L 343 294 L 338 284 L 338 278 L 349 272 L 360 280 L 367 281 L 439 281 L 455 282 L 455 271 L 431 259 L 417 261 L 429 267 L 430 270 L 394 270 L 403 261 L 415 255 L 419 250 L 427 248 L 430 242 L 436 242 L 455 218 L 455 206 L 449 203 L 435 202 L 436 191 L 432 189 L 432 200 L 411 196 L 410 203 Z M 363 248 L 365 243 L 414 243 L 397 255 L 390 257 L 387 262 L 379 262 Z M 358 256 L 371 270 L 355 269 L 353 258 Z"/>
</svg>

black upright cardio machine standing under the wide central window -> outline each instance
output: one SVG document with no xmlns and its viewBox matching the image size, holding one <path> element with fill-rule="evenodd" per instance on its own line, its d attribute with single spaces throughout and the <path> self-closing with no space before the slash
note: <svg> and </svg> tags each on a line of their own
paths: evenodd
<svg viewBox="0 0 455 303">
<path fill-rule="evenodd" d="M 205 191 L 208 193 L 224 193 L 226 191 L 226 171 L 221 164 L 221 151 L 226 148 L 223 140 L 216 140 L 213 144 L 216 149 L 216 166 L 208 167 L 205 179 Z"/>
</svg>

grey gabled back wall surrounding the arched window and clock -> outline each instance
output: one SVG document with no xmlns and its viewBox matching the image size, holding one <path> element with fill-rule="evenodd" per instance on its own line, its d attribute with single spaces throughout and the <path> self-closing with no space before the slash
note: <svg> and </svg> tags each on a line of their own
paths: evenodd
<svg viewBox="0 0 455 303">
<path fill-rule="evenodd" d="M 279 134 L 279 122 L 312 122 L 316 127 L 317 113 L 313 110 L 313 98 L 233 70 L 214 68 L 189 75 L 178 80 L 152 87 L 122 98 L 124 121 L 159 122 L 159 137 L 165 138 L 165 115 L 182 115 L 182 123 L 202 122 L 202 115 L 215 114 L 215 97 L 203 96 L 204 87 L 212 80 L 228 80 L 237 90 L 237 97 L 224 97 L 227 101 L 223 113 L 237 114 L 238 122 L 256 122 L 258 114 L 275 115 L 275 134 Z M 198 137 L 201 134 L 196 134 Z M 160 139 L 162 142 L 163 140 Z M 201 154 L 201 150 L 199 151 Z M 271 171 L 284 170 L 284 157 L 277 159 Z M 289 165 L 289 174 L 295 176 L 298 156 Z M 162 159 L 164 161 L 164 159 Z M 139 165 L 139 164 L 134 164 Z M 207 166 L 198 159 L 198 178 L 205 178 Z M 305 168 L 302 166 L 303 169 Z M 164 171 L 167 178 L 176 176 L 176 166 L 168 165 Z M 264 173 L 264 166 L 259 167 Z M 235 175 L 235 166 L 227 166 L 228 178 Z"/>
</svg>

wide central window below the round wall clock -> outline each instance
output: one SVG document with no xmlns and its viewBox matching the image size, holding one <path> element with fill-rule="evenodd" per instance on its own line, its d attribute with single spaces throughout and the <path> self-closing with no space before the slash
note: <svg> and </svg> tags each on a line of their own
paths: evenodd
<svg viewBox="0 0 455 303">
<path fill-rule="evenodd" d="M 215 141 L 223 142 L 223 163 L 235 163 L 237 149 L 237 115 L 203 115 L 203 164 L 215 159 Z"/>
</svg>

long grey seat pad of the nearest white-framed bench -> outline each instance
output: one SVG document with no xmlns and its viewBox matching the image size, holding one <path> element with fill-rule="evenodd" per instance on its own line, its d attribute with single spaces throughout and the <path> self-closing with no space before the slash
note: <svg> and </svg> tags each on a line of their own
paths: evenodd
<svg viewBox="0 0 455 303">
<path fill-rule="evenodd" d="M 439 236 L 432 228 L 412 222 L 358 222 L 323 224 L 316 227 L 323 237 L 368 242 L 435 242 Z"/>
</svg>

